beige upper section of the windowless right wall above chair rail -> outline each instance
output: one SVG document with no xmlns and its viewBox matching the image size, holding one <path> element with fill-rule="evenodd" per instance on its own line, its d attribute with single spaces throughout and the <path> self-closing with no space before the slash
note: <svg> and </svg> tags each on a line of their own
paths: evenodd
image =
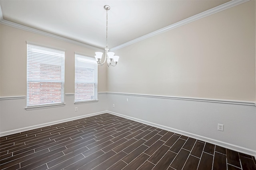
<svg viewBox="0 0 256 170">
<path fill-rule="evenodd" d="M 255 101 L 254 3 L 114 51 L 108 91 Z"/>
</svg>

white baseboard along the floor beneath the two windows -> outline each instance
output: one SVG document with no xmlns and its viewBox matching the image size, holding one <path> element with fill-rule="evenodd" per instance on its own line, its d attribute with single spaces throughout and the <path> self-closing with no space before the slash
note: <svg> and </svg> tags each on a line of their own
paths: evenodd
<svg viewBox="0 0 256 170">
<path fill-rule="evenodd" d="M 11 130 L 11 131 L 4 131 L 4 132 L 0 133 L 0 137 L 7 136 L 7 135 L 12 135 L 12 134 L 20 133 L 20 132 L 24 132 L 24 131 L 33 130 L 33 129 L 37 129 L 37 128 L 40 128 L 40 127 L 55 125 L 55 124 L 58 124 L 58 123 L 64 123 L 64 122 L 72 121 L 72 120 L 76 120 L 76 119 L 82 119 L 84 117 L 100 115 L 102 113 L 107 113 L 107 111 L 101 111 L 101 112 L 98 112 L 98 113 L 91 113 L 91 114 L 88 114 L 88 115 L 82 115 L 82 116 L 72 117 L 72 118 L 68 118 L 68 119 L 62 119 L 62 120 L 59 120 L 59 121 L 52 121 L 52 122 L 49 122 L 49 123 L 43 123 L 43 124 L 40 124 L 40 125 L 34 125 L 34 126 L 24 127 L 24 128 L 20 128 L 20 129 L 14 129 L 14 130 Z"/>
</svg>

